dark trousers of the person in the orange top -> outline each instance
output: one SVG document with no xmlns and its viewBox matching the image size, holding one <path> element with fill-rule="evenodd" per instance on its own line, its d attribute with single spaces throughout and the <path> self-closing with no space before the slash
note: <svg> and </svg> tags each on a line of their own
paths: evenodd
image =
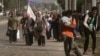
<svg viewBox="0 0 100 56">
<path fill-rule="evenodd" d="M 64 37 L 64 50 L 65 50 L 65 54 L 66 56 L 70 56 L 70 51 L 72 48 L 72 38 L 69 38 L 67 36 L 63 36 Z"/>
</svg>

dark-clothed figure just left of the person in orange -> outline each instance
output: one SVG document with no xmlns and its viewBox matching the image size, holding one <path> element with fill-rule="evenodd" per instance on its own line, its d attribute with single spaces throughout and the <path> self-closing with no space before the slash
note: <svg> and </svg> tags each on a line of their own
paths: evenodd
<svg viewBox="0 0 100 56">
<path fill-rule="evenodd" d="M 59 15 L 60 17 L 60 15 Z M 53 13 L 53 19 L 52 19 L 52 30 L 53 30 L 53 38 L 57 41 L 59 41 L 60 33 L 59 33 L 59 17 L 58 14 L 55 12 Z"/>
</svg>

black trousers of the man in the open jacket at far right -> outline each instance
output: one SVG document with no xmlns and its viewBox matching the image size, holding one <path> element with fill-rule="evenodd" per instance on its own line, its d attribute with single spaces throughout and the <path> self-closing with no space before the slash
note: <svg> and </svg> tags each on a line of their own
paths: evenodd
<svg viewBox="0 0 100 56">
<path fill-rule="evenodd" d="M 89 35 L 91 35 L 91 37 L 92 37 L 92 51 L 95 51 L 95 48 L 96 48 L 96 33 L 95 33 L 95 31 L 90 32 L 89 30 L 85 29 L 84 52 L 86 52 L 88 49 Z"/>
</svg>

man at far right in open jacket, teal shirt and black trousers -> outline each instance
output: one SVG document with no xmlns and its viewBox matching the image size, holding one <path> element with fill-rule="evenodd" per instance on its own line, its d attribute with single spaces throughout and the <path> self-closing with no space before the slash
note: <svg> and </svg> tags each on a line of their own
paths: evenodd
<svg viewBox="0 0 100 56">
<path fill-rule="evenodd" d="M 96 49 L 96 29 L 98 23 L 97 8 L 93 7 L 92 12 L 85 15 L 84 19 L 84 32 L 85 32 L 85 42 L 84 42 L 84 52 L 86 54 L 89 45 L 89 35 L 92 37 L 92 53 L 95 54 Z"/>
</svg>

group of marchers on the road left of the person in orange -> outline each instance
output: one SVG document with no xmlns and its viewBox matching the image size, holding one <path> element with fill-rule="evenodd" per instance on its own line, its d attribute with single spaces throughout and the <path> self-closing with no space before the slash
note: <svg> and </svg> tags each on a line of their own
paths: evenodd
<svg viewBox="0 0 100 56">
<path fill-rule="evenodd" d="M 53 39 L 61 41 L 60 37 L 60 18 L 61 15 L 57 12 L 35 12 L 36 20 L 30 17 L 30 15 L 25 10 L 22 13 L 22 18 L 19 20 L 16 16 L 15 11 L 9 13 L 8 19 L 8 31 L 7 35 L 9 39 L 14 39 L 16 36 L 17 30 L 22 30 L 22 35 L 25 37 L 26 45 L 32 45 L 33 37 L 35 41 L 38 41 L 38 45 L 45 45 L 45 39 Z M 10 29 L 11 28 L 11 29 Z M 13 34 L 9 34 L 11 32 Z M 53 34 L 52 34 L 53 33 Z M 12 36 L 12 37 L 11 37 Z M 16 37 L 15 37 L 16 38 Z M 10 43 L 16 42 L 9 40 Z"/>
</svg>

